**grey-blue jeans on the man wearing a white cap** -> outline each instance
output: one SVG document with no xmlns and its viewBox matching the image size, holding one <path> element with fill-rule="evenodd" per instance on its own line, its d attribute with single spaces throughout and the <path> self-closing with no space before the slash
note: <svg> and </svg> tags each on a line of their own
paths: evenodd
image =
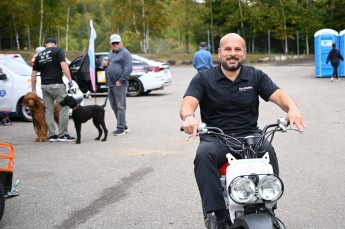
<svg viewBox="0 0 345 229">
<path fill-rule="evenodd" d="M 126 95 L 128 83 L 122 86 L 109 87 L 108 97 L 111 108 L 117 119 L 116 128 L 124 130 L 126 126 Z"/>
</svg>

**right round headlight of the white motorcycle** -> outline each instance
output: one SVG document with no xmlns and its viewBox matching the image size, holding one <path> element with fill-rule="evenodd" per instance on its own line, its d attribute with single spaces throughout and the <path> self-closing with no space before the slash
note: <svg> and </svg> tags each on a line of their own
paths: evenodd
<svg viewBox="0 0 345 229">
<path fill-rule="evenodd" d="M 284 191 L 283 182 L 274 175 L 263 177 L 258 184 L 259 196 L 266 201 L 276 201 Z"/>
</svg>

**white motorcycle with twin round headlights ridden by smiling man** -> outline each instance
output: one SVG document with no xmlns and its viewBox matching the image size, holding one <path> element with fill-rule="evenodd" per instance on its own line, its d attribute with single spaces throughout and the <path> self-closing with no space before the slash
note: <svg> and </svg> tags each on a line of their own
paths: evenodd
<svg viewBox="0 0 345 229">
<path fill-rule="evenodd" d="M 284 184 L 273 173 L 269 154 L 265 150 L 268 147 L 259 149 L 265 141 L 271 145 L 276 132 L 287 132 L 288 125 L 288 121 L 279 118 L 276 123 L 266 125 L 259 137 L 239 139 L 224 134 L 217 127 L 199 124 L 198 135 L 217 137 L 231 152 L 226 155 L 228 163 L 219 168 L 219 176 L 232 228 L 285 229 L 284 223 L 274 213 L 277 201 L 283 195 Z M 235 154 L 241 159 L 236 159 Z M 206 228 L 217 228 L 214 213 L 204 212 L 204 221 Z"/>
</svg>

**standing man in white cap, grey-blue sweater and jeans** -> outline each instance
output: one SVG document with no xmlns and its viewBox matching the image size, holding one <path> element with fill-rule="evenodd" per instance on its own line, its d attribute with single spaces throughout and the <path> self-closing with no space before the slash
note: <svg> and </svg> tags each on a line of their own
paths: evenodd
<svg viewBox="0 0 345 229">
<path fill-rule="evenodd" d="M 108 60 L 103 60 L 102 66 L 106 68 L 109 103 L 117 119 L 116 130 L 113 134 L 119 136 L 129 131 L 126 123 L 126 96 L 128 77 L 132 72 L 132 54 L 123 47 L 118 34 L 110 36 L 110 45 Z"/>
</svg>

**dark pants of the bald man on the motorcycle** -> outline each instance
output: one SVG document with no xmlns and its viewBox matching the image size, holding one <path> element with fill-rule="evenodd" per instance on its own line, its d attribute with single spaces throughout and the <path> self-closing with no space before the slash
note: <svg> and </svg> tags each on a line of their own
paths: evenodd
<svg viewBox="0 0 345 229">
<path fill-rule="evenodd" d="M 260 135 L 260 133 L 251 133 L 252 135 Z M 246 134 L 239 134 L 234 137 L 244 137 Z M 263 144 L 262 149 L 269 146 L 268 142 Z M 273 167 L 273 172 L 279 175 L 278 160 L 274 148 L 268 148 L 270 156 L 270 163 Z M 203 209 L 205 212 L 213 212 L 215 210 L 226 209 L 223 188 L 219 179 L 218 168 L 227 162 L 226 154 L 229 149 L 224 144 L 220 143 L 214 137 L 200 138 L 196 156 L 194 159 L 194 174 L 198 184 Z"/>
</svg>

